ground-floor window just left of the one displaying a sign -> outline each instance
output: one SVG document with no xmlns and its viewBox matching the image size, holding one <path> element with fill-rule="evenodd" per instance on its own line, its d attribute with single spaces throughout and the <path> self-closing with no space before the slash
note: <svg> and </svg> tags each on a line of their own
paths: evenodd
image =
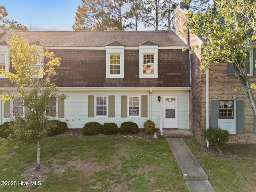
<svg viewBox="0 0 256 192">
<path fill-rule="evenodd" d="M 96 117 L 107 117 L 108 116 L 108 97 L 107 96 L 96 96 Z"/>
</svg>

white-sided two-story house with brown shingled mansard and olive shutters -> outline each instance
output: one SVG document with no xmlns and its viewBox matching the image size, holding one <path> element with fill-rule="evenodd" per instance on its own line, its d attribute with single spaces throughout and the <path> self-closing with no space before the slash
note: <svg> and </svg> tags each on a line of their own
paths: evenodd
<svg viewBox="0 0 256 192">
<path fill-rule="evenodd" d="M 173 31 L 16 31 L 0 30 L 0 68 L 14 72 L 8 40 L 12 33 L 43 43 L 61 58 L 57 117 L 68 128 L 87 122 L 132 121 L 144 128 L 148 119 L 164 128 L 189 129 L 189 46 Z M 11 90 L 0 74 L 0 92 Z M 20 98 L 19 98 L 20 99 Z M 0 124 L 24 116 L 18 99 L 0 102 Z M 162 120 L 161 120 L 162 118 Z"/>
</svg>

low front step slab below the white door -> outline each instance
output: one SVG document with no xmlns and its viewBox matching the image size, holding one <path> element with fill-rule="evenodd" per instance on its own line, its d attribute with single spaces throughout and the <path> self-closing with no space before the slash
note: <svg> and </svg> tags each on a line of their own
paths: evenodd
<svg viewBox="0 0 256 192">
<path fill-rule="evenodd" d="M 158 129 L 157 136 L 159 138 L 188 138 L 194 137 L 194 134 L 189 129 L 163 129 L 163 135 L 161 135 Z"/>
</svg>

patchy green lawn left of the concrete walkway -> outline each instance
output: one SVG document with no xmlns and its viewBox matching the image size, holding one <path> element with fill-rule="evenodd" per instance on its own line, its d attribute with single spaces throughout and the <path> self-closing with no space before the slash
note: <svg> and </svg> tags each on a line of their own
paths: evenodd
<svg viewBox="0 0 256 192">
<path fill-rule="evenodd" d="M 33 170 L 34 145 L 0 150 L 0 181 L 16 181 L 0 191 L 189 191 L 166 139 L 52 136 L 41 146 L 40 172 Z"/>
</svg>

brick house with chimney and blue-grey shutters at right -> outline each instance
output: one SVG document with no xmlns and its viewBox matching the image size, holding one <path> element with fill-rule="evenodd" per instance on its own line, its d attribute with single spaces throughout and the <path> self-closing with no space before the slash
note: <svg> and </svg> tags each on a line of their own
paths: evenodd
<svg viewBox="0 0 256 192">
<path fill-rule="evenodd" d="M 191 58 L 191 92 L 190 92 L 190 130 L 200 143 L 205 144 L 204 130 L 221 128 L 231 134 L 232 143 L 256 142 L 256 118 L 250 102 L 244 92 L 234 91 L 241 87 L 235 76 L 232 64 L 212 64 L 209 70 L 200 71 L 201 45 L 200 36 L 188 33 L 181 34 L 187 20 L 184 3 L 176 9 L 174 32 L 190 46 L 200 48 L 190 55 Z M 245 60 L 250 82 L 256 82 L 256 44 L 250 48 L 250 56 Z M 256 96 L 256 90 L 254 90 Z"/>
</svg>

